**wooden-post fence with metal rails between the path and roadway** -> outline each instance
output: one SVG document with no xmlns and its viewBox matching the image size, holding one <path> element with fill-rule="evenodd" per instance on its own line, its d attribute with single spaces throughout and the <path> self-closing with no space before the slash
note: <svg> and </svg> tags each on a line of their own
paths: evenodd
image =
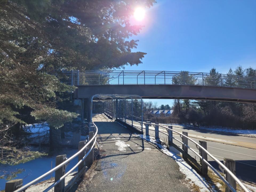
<svg viewBox="0 0 256 192">
<path fill-rule="evenodd" d="M 207 142 L 206 141 L 199 141 L 199 143 L 197 144 L 195 141 L 193 141 L 191 138 L 189 138 L 187 132 L 182 131 L 182 134 L 178 133 L 177 131 L 173 130 L 173 126 L 168 126 L 168 128 L 167 128 L 165 126 L 159 125 L 158 123 L 152 124 L 151 122 L 145 122 L 144 124 L 146 126 L 146 128 L 145 128 L 146 129 L 146 131 L 145 131 L 146 137 L 149 137 L 149 130 L 155 131 L 155 139 L 157 139 L 158 142 L 161 143 L 161 141 L 159 140 L 159 132 L 165 134 L 168 138 L 167 144 L 168 144 L 169 149 L 170 149 L 170 147 L 174 147 L 175 149 L 177 149 L 182 154 L 183 159 L 187 163 L 189 163 L 192 167 L 195 167 L 203 175 L 206 176 L 208 174 L 208 167 L 210 167 L 221 178 L 221 180 L 224 181 L 224 183 L 227 185 L 225 192 L 236 191 L 236 183 L 238 183 L 239 186 L 241 186 L 244 191 L 249 192 L 249 190 L 243 185 L 243 183 L 241 181 L 239 181 L 239 179 L 235 176 L 235 161 L 233 159 L 224 158 L 224 161 L 222 164 L 220 161 L 218 161 L 215 157 L 213 157 L 213 155 L 211 155 L 207 151 Z M 155 129 L 154 130 L 149 129 L 149 125 L 155 126 Z M 167 134 L 164 133 L 163 131 L 159 131 L 159 126 L 166 128 Z M 180 135 L 180 137 L 182 138 L 182 141 L 179 141 L 178 139 L 174 138 L 173 132 Z M 173 143 L 173 139 L 182 143 L 182 149 Z M 195 152 L 193 149 L 191 149 L 191 147 L 188 145 L 188 139 L 196 145 L 197 149 L 199 150 L 199 154 L 197 152 Z M 195 158 L 191 157 L 191 155 L 188 154 L 188 149 L 190 149 L 196 155 L 199 156 L 200 163 L 197 162 L 197 160 Z M 216 169 L 213 168 L 213 166 L 211 166 L 209 164 L 209 162 L 207 161 L 208 155 L 219 164 L 219 169 L 225 175 L 224 178 L 221 176 L 221 174 L 219 174 L 217 172 Z"/>
</svg>

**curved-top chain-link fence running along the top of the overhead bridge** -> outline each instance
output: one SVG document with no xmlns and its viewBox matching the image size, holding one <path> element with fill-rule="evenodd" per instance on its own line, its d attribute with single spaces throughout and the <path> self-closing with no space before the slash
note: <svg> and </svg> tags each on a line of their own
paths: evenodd
<svg viewBox="0 0 256 192">
<path fill-rule="evenodd" d="M 70 85 L 202 85 L 256 89 L 256 77 L 189 71 L 65 71 Z"/>
</svg>

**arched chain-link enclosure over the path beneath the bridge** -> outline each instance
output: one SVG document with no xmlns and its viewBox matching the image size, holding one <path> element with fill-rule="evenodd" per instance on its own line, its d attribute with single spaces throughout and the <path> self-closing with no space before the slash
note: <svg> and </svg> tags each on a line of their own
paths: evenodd
<svg viewBox="0 0 256 192">
<path fill-rule="evenodd" d="M 90 121 L 101 113 L 143 131 L 143 100 L 139 95 L 93 95 Z"/>
</svg>

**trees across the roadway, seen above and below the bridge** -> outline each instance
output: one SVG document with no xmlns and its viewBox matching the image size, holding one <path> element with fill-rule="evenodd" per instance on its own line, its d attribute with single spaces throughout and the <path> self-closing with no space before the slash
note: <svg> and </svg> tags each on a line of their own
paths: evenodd
<svg viewBox="0 0 256 192">
<path fill-rule="evenodd" d="M 177 84 L 186 79 L 185 83 L 195 85 L 195 77 L 189 75 L 188 71 L 181 72 L 180 75 L 175 77 L 176 80 L 174 81 Z M 218 71 L 212 68 L 210 74 L 212 76 L 206 78 L 205 82 L 208 82 L 208 85 L 218 85 L 216 84 L 220 82 Z M 184 75 L 189 78 L 183 78 Z M 230 77 L 225 81 L 226 85 L 233 86 L 238 83 L 237 78 L 235 78 L 238 76 L 250 77 L 253 80 L 256 77 L 256 69 L 252 67 L 243 69 L 242 66 L 238 66 L 235 70 L 230 68 L 226 75 Z M 248 78 L 247 80 L 245 79 L 239 79 L 241 86 L 255 85 L 255 82 L 245 84 Z M 163 105 L 160 108 L 165 109 Z M 154 107 L 152 102 L 145 102 L 143 109 L 144 119 L 152 122 L 180 123 L 193 126 L 221 126 L 234 129 L 255 129 L 256 127 L 256 105 L 251 103 L 175 99 L 174 106 L 171 107 L 174 111 L 170 117 L 153 116 L 150 111 L 157 109 L 157 107 Z"/>
</svg>

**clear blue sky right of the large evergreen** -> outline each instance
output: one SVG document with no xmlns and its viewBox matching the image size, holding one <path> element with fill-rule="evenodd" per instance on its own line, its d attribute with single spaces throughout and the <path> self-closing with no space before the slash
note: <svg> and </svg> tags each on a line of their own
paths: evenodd
<svg viewBox="0 0 256 192">
<path fill-rule="evenodd" d="M 133 51 L 147 55 L 142 64 L 125 70 L 209 72 L 215 67 L 226 73 L 238 65 L 256 68 L 255 0 L 158 0 L 140 24 L 145 27 L 131 37 L 139 39 Z"/>
</svg>

